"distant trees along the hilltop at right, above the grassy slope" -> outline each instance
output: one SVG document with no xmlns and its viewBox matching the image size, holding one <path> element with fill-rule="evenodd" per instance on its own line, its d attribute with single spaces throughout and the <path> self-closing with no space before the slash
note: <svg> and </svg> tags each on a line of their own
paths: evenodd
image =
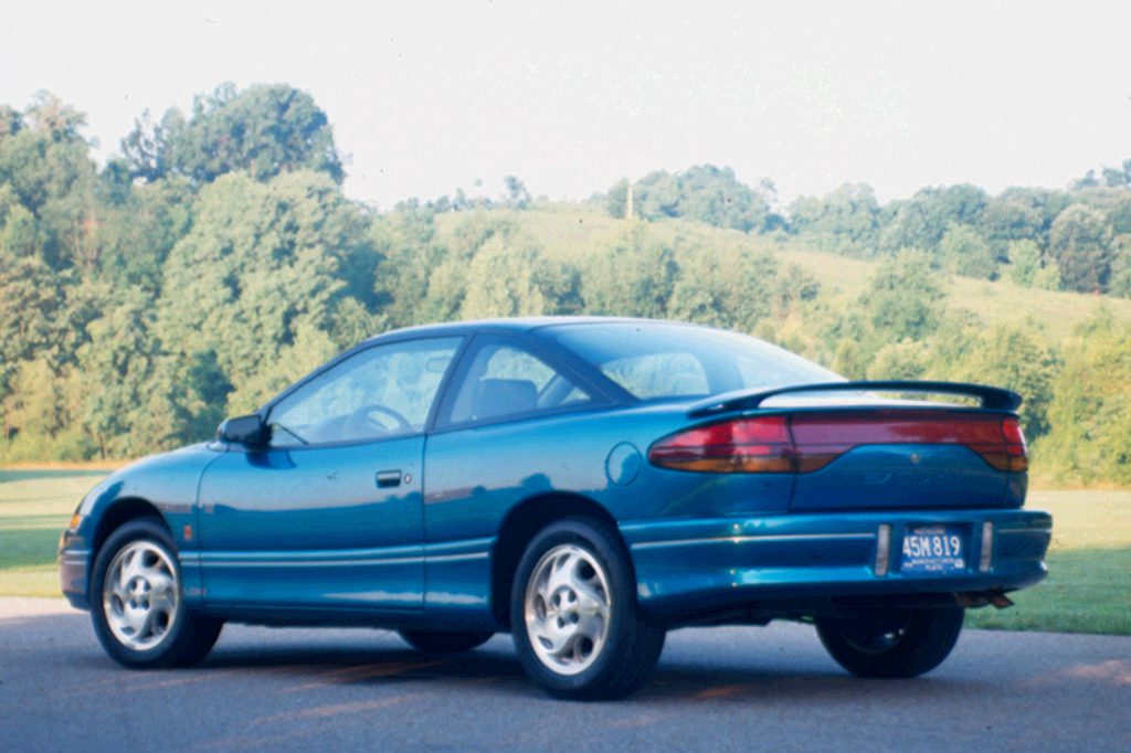
<svg viewBox="0 0 1131 753">
<path fill-rule="evenodd" d="M 887 204 L 870 185 L 845 184 L 777 208 L 772 181 L 750 188 L 731 170 L 700 165 L 650 173 L 632 184 L 632 197 L 633 213 L 649 219 L 770 233 L 857 258 L 915 250 L 933 268 L 965 277 L 1131 297 L 1131 159 L 1100 172 L 1062 190 L 1015 187 L 991 196 L 969 184 L 931 187 Z M 608 214 L 627 213 L 628 183 L 608 190 Z"/>
</svg>

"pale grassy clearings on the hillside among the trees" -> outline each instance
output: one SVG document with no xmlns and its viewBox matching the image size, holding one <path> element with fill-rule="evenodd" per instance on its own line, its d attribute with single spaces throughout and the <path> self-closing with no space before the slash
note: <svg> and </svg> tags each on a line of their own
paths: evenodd
<svg viewBox="0 0 1131 753">
<path fill-rule="evenodd" d="M 483 216 L 516 223 L 545 249 L 549 257 L 576 263 L 584 263 L 590 256 L 607 248 L 628 227 L 624 220 L 584 204 L 549 205 L 526 211 L 492 210 L 483 213 Z M 467 215 L 458 213 L 440 215 L 437 223 L 441 237 L 454 233 L 466 218 Z M 651 223 L 649 233 L 675 248 L 681 242 L 694 242 L 720 249 L 768 250 L 783 265 L 795 263 L 811 272 L 821 284 L 822 296 L 834 303 L 855 301 L 878 263 L 682 219 Z M 947 292 L 947 303 L 952 309 L 973 311 L 987 324 L 1022 322 L 1031 318 L 1045 327 L 1054 341 L 1070 335 L 1100 308 L 1107 308 L 1119 320 L 1131 320 L 1131 300 L 1038 291 L 1004 279 L 991 283 L 949 276 Z"/>
</svg>

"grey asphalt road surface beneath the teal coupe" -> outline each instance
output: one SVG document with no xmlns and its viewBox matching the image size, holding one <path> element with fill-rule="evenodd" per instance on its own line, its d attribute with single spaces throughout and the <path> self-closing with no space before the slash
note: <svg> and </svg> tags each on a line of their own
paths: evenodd
<svg viewBox="0 0 1131 753">
<path fill-rule="evenodd" d="M 456 658 L 377 630 L 225 628 L 205 664 L 129 672 L 85 613 L 0 599 L 0 751 L 1131 751 L 1131 638 L 967 631 L 862 681 L 804 625 L 682 630 L 618 702 L 543 695 L 507 635 Z"/>
</svg>

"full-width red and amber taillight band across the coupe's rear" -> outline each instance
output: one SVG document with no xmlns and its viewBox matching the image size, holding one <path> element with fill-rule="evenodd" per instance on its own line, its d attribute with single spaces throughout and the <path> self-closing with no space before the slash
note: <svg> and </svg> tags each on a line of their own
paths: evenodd
<svg viewBox="0 0 1131 753">
<path fill-rule="evenodd" d="M 1028 468 L 1016 417 L 938 410 L 802 413 L 733 418 L 651 445 L 653 465 L 707 473 L 811 473 L 862 444 L 961 444 L 998 470 Z"/>
</svg>

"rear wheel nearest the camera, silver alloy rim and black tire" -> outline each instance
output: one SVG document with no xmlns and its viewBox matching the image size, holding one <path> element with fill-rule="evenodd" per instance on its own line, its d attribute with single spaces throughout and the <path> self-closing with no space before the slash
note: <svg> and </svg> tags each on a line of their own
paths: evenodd
<svg viewBox="0 0 1131 753">
<path fill-rule="evenodd" d="M 567 518 L 534 536 L 518 563 L 510 607 L 523 668 L 558 698 L 628 695 L 664 648 L 664 629 L 637 609 L 628 553 L 594 518 Z"/>
</svg>

